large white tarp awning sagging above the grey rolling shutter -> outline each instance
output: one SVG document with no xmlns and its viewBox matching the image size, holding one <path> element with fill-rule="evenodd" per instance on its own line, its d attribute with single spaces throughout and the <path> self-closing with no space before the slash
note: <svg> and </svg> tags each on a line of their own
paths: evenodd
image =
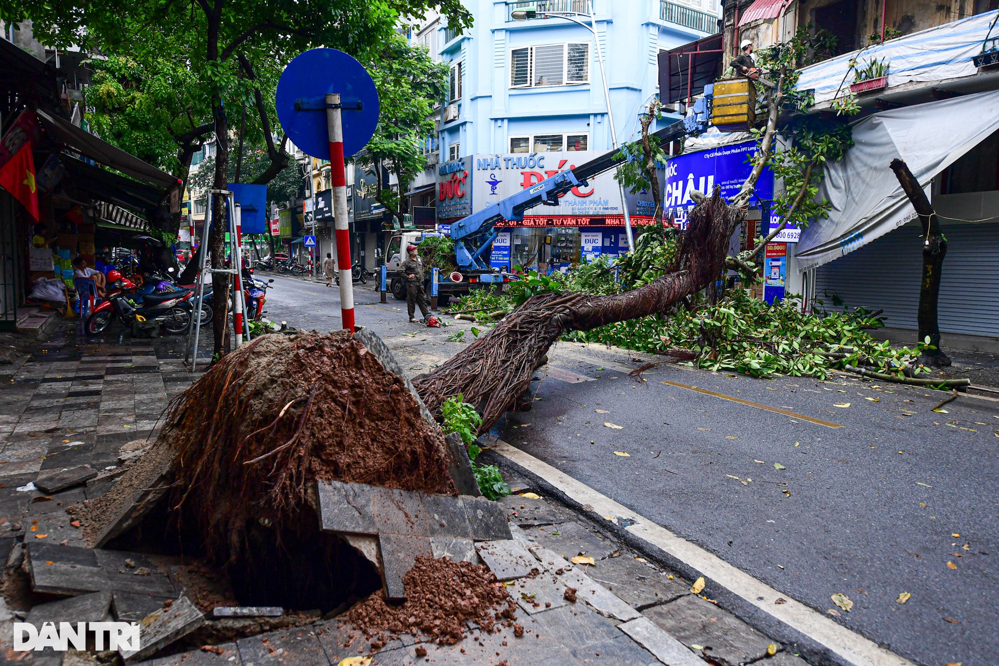
<svg viewBox="0 0 999 666">
<path fill-rule="evenodd" d="M 882 111 L 853 127 L 854 146 L 825 167 L 816 199 L 828 218 L 801 232 L 795 256 L 803 272 L 856 250 L 916 217 L 893 159 L 905 160 L 923 188 L 999 129 L 999 91 Z"/>
</svg>

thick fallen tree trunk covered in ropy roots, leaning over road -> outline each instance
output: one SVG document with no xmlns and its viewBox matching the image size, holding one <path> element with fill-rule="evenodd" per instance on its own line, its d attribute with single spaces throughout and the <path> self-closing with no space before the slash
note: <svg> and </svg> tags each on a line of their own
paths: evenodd
<svg viewBox="0 0 999 666">
<path fill-rule="evenodd" d="M 676 264 L 667 275 L 622 294 L 538 294 L 504 317 L 487 335 L 441 365 L 413 380 L 432 413 L 461 394 L 483 416 L 488 430 L 530 383 L 548 348 L 565 331 L 588 331 L 605 324 L 662 312 L 711 285 L 720 275 L 729 239 L 742 220 L 716 188 L 691 210 Z"/>
</svg>

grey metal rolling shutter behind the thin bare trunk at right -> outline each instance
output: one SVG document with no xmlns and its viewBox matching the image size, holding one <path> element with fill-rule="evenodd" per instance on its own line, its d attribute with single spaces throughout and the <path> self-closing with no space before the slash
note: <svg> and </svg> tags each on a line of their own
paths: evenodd
<svg viewBox="0 0 999 666">
<path fill-rule="evenodd" d="M 999 224 L 943 225 L 947 257 L 940 283 L 940 330 L 999 336 Z M 815 297 L 827 310 L 884 309 L 885 325 L 915 329 L 922 272 L 918 223 L 868 243 L 816 270 Z"/>
</svg>

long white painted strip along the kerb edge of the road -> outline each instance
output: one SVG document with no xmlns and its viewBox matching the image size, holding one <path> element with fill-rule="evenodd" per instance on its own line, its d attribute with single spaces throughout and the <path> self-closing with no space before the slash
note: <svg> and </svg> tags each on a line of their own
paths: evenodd
<svg viewBox="0 0 999 666">
<path fill-rule="evenodd" d="M 798 631 L 829 651 L 857 666 L 913 666 L 871 640 L 854 633 L 799 601 L 788 599 L 769 585 L 756 580 L 703 548 L 680 538 L 664 527 L 635 513 L 569 475 L 541 462 L 532 455 L 510 446 L 501 439 L 488 437 L 491 448 L 504 458 L 530 470 L 581 505 L 589 505 L 600 516 L 615 516 L 633 521 L 626 529 L 670 556 L 700 572 L 710 582 L 720 585 L 756 606 L 788 627 Z M 785 603 L 775 604 L 778 598 Z"/>
</svg>

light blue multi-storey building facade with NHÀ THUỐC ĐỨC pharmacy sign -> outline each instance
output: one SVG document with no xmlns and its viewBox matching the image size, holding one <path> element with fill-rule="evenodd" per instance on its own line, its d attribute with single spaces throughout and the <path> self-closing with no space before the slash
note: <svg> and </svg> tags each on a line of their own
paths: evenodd
<svg viewBox="0 0 999 666">
<path fill-rule="evenodd" d="M 434 165 L 439 222 L 493 203 L 490 193 L 508 192 L 511 182 L 527 187 L 610 150 L 610 115 L 618 144 L 637 138 L 638 117 L 658 94 L 658 53 L 718 31 L 717 0 L 464 4 L 475 25 L 465 34 L 441 27 L 435 40 L 441 59 L 451 67 L 437 137 L 439 163 Z M 517 20 L 519 12 L 529 9 L 535 18 Z M 563 16 L 544 17 L 544 12 L 564 13 L 585 25 Z M 607 113 L 607 95 L 612 114 Z M 678 117 L 664 115 L 659 122 L 665 125 Z M 531 155 L 534 167 L 527 166 Z M 496 165 L 499 170 L 491 168 Z M 498 181 L 510 182 L 498 189 Z M 507 263 L 562 268 L 579 261 L 580 253 L 594 256 L 597 233 L 606 251 L 619 249 L 623 233 L 618 237 L 615 231 L 624 231 L 623 211 L 611 177 L 566 195 L 557 208 L 528 216 L 521 225 L 507 225 L 512 248 Z M 640 196 L 628 205 L 639 223 L 642 208 Z M 587 229 L 590 235 L 584 239 Z M 590 243 L 588 253 L 583 252 L 584 240 Z"/>
</svg>

